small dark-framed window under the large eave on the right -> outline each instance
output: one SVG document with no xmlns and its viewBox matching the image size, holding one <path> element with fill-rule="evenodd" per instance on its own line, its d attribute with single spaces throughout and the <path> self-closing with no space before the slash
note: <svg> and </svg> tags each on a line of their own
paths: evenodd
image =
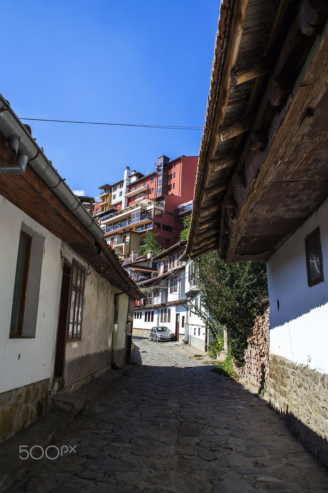
<svg viewBox="0 0 328 493">
<path fill-rule="evenodd" d="M 320 229 L 305 238 L 307 283 L 310 287 L 324 282 Z"/>
</svg>

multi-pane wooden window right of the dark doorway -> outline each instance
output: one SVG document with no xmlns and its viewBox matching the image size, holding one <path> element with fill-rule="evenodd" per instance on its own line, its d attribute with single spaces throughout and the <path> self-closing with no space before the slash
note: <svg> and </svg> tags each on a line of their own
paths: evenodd
<svg viewBox="0 0 328 493">
<path fill-rule="evenodd" d="M 73 262 L 71 303 L 68 318 L 68 339 L 78 339 L 81 337 L 85 279 L 85 269 L 80 264 Z"/>
</svg>

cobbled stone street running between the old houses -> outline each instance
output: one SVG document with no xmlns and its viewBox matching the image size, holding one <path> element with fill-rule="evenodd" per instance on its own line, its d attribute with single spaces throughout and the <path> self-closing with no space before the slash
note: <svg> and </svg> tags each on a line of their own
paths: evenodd
<svg viewBox="0 0 328 493">
<path fill-rule="evenodd" d="M 136 339 L 142 365 L 56 444 L 76 454 L 34 460 L 8 492 L 328 493 L 326 470 L 266 401 L 196 350 Z"/>
</svg>

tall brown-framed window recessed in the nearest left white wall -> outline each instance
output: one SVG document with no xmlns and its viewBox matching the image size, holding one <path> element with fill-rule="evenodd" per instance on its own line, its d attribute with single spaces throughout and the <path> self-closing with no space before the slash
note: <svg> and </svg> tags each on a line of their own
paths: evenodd
<svg viewBox="0 0 328 493">
<path fill-rule="evenodd" d="M 18 244 L 9 337 L 22 336 L 31 243 L 31 236 L 25 233 L 25 231 L 21 231 Z"/>
</svg>

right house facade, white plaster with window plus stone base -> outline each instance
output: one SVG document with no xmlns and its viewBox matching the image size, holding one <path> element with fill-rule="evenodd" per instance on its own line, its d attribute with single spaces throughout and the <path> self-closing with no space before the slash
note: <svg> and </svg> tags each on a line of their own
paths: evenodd
<svg viewBox="0 0 328 493">
<path fill-rule="evenodd" d="M 327 461 L 328 199 L 269 258 L 270 402 Z"/>
</svg>

